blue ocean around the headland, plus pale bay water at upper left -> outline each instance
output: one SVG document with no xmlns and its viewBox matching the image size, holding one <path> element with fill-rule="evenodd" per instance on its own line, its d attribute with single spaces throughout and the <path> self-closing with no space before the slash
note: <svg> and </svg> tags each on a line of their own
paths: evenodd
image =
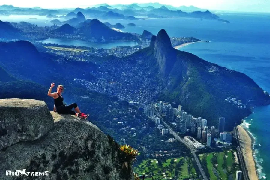
<svg viewBox="0 0 270 180">
<path fill-rule="evenodd" d="M 101 20 L 111 24 L 121 23 L 126 32 L 142 34 L 148 30 L 154 35 L 165 29 L 169 36 L 199 38 L 210 43 L 195 43 L 179 50 L 193 53 L 204 60 L 245 73 L 261 88 L 270 92 L 270 14 L 222 13 L 222 23 L 215 20 L 193 18 L 146 19 L 146 20 Z M 12 21 L 15 16 L 0 17 Z M 48 26 L 49 19 L 37 16 L 38 26 Z M 87 17 L 92 19 L 91 17 Z M 25 19 L 25 20 L 24 20 Z M 16 16 L 14 21 L 29 21 L 29 17 Z M 135 23 L 135 27 L 127 26 Z M 245 127 L 254 138 L 254 158 L 259 179 L 270 179 L 270 106 L 255 107 L 245 120 Z"/>
</svg>

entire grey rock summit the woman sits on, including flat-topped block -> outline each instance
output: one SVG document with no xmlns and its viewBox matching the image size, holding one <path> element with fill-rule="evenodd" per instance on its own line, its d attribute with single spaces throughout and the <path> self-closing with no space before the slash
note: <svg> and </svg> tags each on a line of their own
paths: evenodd
<svg viewBox="0 0 270 180">
<path fill-rule="evenodd" d="M 0 179 L 131 180 L 119 149 L 98 127 L 72 115 L 49 112 L 43 101 L 0 101 Z M 4 133 L 3 133 L 4 132 Z M 6 170 L 48 176 L 6 176 Z"/>
</svg>

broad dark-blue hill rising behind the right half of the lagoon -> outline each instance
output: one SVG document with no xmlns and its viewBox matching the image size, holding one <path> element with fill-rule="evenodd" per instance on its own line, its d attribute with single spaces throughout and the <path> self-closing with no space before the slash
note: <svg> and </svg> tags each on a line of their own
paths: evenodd
<svg viewBox="0 0 270 180">
<path fill-rule="evenodd" d="M 90 23 L 79 28 L 79 31 L 88 38 L 95 38 L 101 40 L 102 37 L 106 40 L 117 39 L 134 39 L 134 36 L 130 33 L 117 32 L 106 26 L 98 19 L 91 20 Z"/>
</svg>

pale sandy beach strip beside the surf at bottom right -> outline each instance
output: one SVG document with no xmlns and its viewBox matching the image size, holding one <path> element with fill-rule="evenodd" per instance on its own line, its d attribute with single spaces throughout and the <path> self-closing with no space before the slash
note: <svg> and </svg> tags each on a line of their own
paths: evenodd
<svg viewBox="0 0 270 180">
<path fill-rule="evenodd" d="M 252 138 L 249 133 L 241 126 L 237 126 L 239 133 L 239 143 L 244 156 L 245 165 L 247 168 L 248 177 L 251 180 L 258 180 L 255 161 L 252 151 Z"/>
</svg>

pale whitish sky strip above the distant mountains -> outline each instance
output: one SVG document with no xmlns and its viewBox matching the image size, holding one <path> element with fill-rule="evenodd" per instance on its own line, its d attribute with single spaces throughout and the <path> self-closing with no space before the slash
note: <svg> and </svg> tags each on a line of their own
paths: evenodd
<svg viewBox="0 0 270 180">
<path fill-rule="evenodd" d="M 16 7 L 41 7 L 48 9 L 57 8 L 76 8 L 89 7 L 96 4 L 107 3 L 112 4 L 132 4 L 132 3 L 148 3 L 159 2 L 160 4 L 179 6 L 196 6 L 209 10 L 229 10 L 229 11 L 245 11 L 245 12 L 270 12 L 270 0 L 0 0 L 0 5 L 13 5 Z"/>
</svg>

